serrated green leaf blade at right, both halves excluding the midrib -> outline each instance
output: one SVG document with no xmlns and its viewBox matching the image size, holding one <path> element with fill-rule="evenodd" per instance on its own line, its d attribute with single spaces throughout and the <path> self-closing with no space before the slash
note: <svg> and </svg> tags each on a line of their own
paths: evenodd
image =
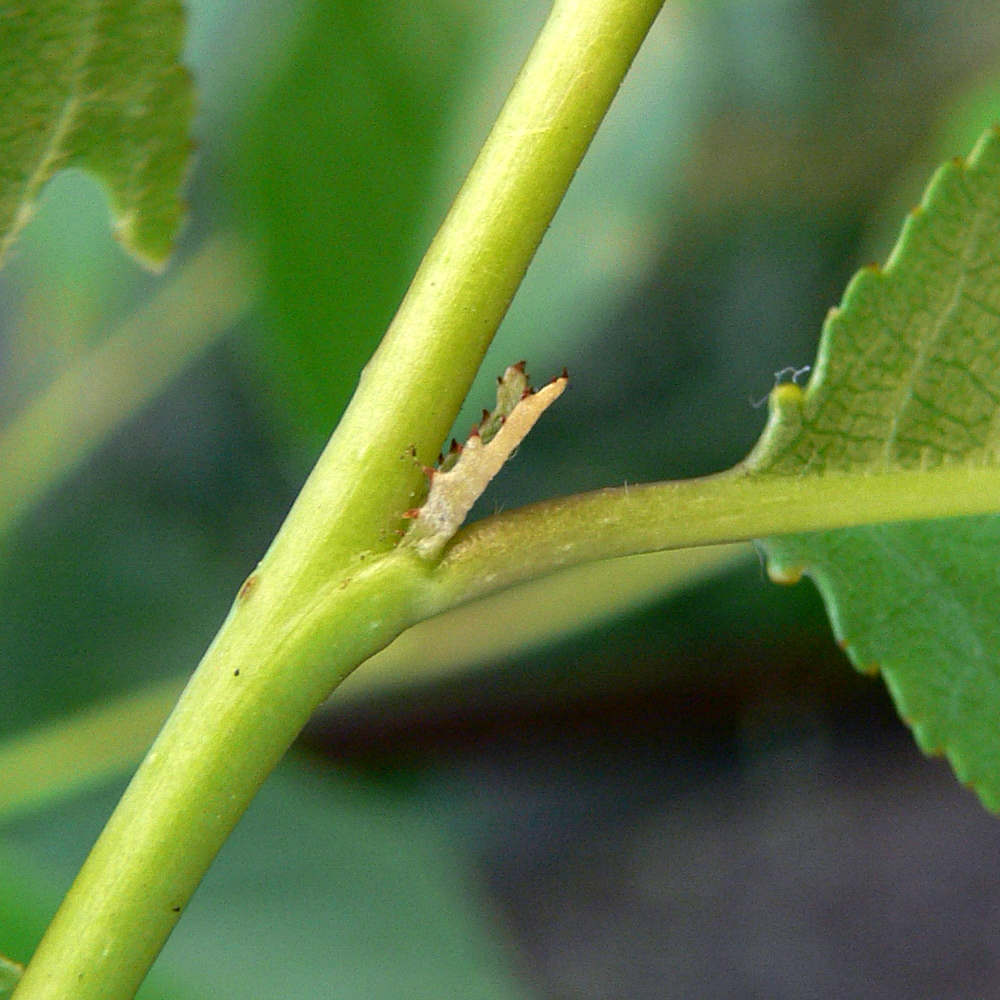
<svg viewBox="0 0 1000 1000">
<path fill-rule="evenodd" d="M 935 176 L 884 270 L 851 282 L 803 392 L 779 386 L 751 476 L 984 467 L 1000 452 L 1000 130 Z M 1000 519 L 768 539 L 823 593 L 920 746 L 1000 810 Z"/>
</svg>

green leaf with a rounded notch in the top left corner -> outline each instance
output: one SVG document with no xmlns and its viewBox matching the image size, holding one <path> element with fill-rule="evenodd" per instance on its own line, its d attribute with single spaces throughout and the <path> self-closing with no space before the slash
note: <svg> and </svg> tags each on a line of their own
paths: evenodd
<svg viewBox="0 0 1000 1000">
<path fill-rule="evenodd" d="M 0 253 L 46 180 L 105 186 L 121 243 L 164 263 L 183 215 L 191 78 L 178 0 L 43 0 L 0 17 Z"/>
</svg>

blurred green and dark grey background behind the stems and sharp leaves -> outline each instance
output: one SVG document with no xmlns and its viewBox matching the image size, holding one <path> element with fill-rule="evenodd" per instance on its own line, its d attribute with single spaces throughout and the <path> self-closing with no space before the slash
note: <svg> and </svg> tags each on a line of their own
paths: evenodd
<svg viewBox="0 0 1000 1000">
<path fill-rule="evenodd" d="M 139 273 L 99 190 L 53 182 L 0 279 L 0 419 L 219 233 L 249 248 L 256 305 L 0 537 L 0 736 L 190 672 L 547 10 L 189 6 L 200 148 L 177 259 Z M 998 42 L 1000 12 L 978 0 L 668 2 L 459 419 L 461 434 L 508 363 L 570 371 L 478 513 L 739 461 L 763 426 L 751 401 L 812 360 L 826 311 L 885 258 L 934 166 L 1000 118 Z M 748 554 L 630 604 L 331 699 L 156 988 L 995 988 L 1000 827 L 851 671 L 811 585 L 775 587 Z M 7 824 L 11 927 L 51 908 L 113 800 Z"/>
</svg>

